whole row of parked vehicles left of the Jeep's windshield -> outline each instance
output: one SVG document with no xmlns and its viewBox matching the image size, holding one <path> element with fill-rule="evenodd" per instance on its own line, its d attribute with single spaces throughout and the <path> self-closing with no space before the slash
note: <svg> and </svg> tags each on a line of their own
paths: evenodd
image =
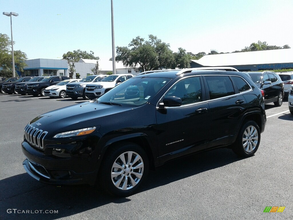
<svg viewBox="0 0 293 220">
<path fill-rule="evenodd" d="M 68 76 L 11 77 L 0 82 L 1 93 L 49 97 L 71 97 L 94 99 L 133 77 L 122 75 L 89 75 L 83 79 L 69 79 Z M 2 80 L 2 79 L 1 79 Z"/>
</svg>

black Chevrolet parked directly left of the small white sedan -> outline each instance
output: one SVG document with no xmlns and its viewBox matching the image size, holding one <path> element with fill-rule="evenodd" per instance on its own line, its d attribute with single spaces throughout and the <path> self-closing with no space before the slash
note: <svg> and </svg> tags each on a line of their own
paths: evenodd
<svg viewBox="0 0 293 220">
<path fill-rule="evenodd" d="M 27 84 L 27 92 L 33 96 L 45 96 L 44 90 L 52 85 L 57 84 L 60 81 L 69 79 L 69 76 L 47 76 L 40 82 L 31 82 Z"/>
</svg>

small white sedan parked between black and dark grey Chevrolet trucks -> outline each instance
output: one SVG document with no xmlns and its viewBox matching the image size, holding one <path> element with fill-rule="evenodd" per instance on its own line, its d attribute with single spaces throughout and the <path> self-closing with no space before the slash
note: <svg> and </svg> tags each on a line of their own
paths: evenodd
<svg viewBox="0 0 293 220">
<path fill-rule="evenodd" d="M 47 87 L 44 90 L 45 96 L 49 97 L 59 97 L 60 99 L 63 99 L 66 97 L 66 85 L 71 82 L 79 82 L 80 79 L 65 79 L 56 85 L 52 85 Z"/>
</svg>

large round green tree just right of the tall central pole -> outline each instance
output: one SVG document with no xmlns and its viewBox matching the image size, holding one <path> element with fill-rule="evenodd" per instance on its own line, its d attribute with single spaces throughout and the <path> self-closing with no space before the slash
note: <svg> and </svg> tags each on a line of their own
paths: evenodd
<svg viewBox="0 0 293 220">
<path fill-rule="evenodd" d="M 116 47 L 116 53 L 117 62 L 121 61 L 125 67 L 138 68 L 142 72 L 177 66 L 170 45 L 151 34 L 149 40 L 137 36 L 127 47 Z"/>
</svg>

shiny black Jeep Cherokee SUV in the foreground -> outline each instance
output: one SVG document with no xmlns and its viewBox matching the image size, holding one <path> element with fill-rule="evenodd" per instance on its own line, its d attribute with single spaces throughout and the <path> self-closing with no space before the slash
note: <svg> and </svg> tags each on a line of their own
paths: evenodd
<svg viewBox="0 0 293 220">
<path fill-rule="evenodd" d="M 126 90 L 136 92 L 125 98 Z M 252 156 L 265 123 L 262 92 L 243 72 L 144 72 L 98 99 L 30 121 L 23 166 L 42 182 L 102 182 L 127 196 L 150 168 L 174 158 L 219 147 Z"/>
</svg>

